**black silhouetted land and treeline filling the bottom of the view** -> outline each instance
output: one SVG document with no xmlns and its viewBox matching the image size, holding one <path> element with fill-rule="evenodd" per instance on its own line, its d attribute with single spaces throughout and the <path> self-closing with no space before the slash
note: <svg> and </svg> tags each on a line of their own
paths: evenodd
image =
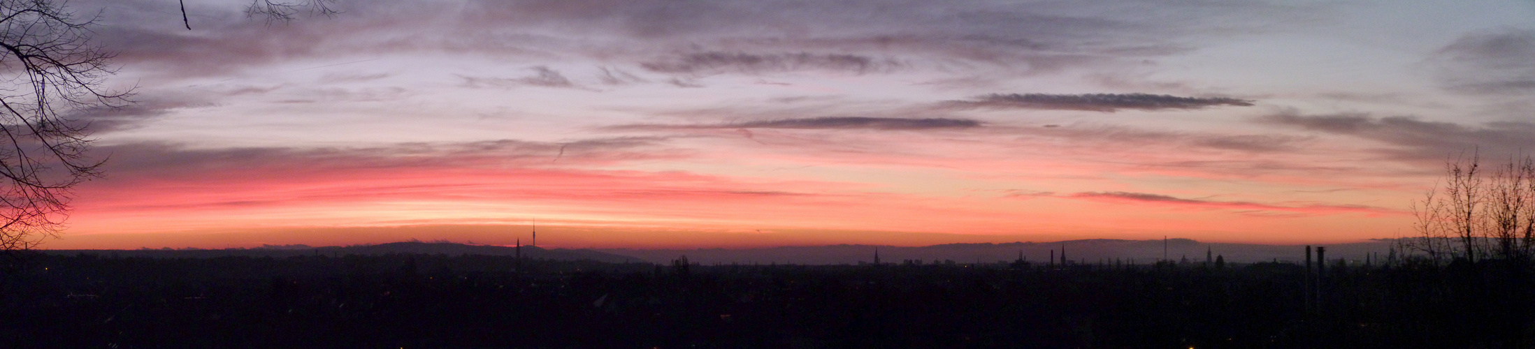
<svg viewBox="0 0 1535 349">
<path fill-rule="evenodd" d="M 5 347 L 1530 347 L 1529 268 L 29 256 Z"/>
</svg>

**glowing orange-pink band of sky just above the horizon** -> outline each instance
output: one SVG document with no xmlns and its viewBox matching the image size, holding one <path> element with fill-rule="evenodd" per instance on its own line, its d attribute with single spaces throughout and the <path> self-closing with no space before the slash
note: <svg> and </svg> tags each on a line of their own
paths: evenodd
<svg viewBox="0 0 1535 349">
<path fill-rule="evenodd" d="M 353 245 L 391 239 L 511 243 L 494 239 L 534 217 L 540 228 L 579 231 L 582 236 L 568 246 L 602 248 L 1159 236 L 1305 243 L 1391 237 L 1392 230 L 1382 227 L 1401 227 L 1406 217 L 1400 211 L 1349 205 L 1005 191 L 923 196 L 867 191 L 863 184 L 553 168 L 338 170 L 244 181 L 129 178 L 111 188 L 86 188 L 66 239 L 48 248 Z M 411 236 L 378 231 L 411 231 Z M 137 237 L 126 239 L 130 236 Z M 559 239 L 546 242 L 560 245 Z"/>
</svg>

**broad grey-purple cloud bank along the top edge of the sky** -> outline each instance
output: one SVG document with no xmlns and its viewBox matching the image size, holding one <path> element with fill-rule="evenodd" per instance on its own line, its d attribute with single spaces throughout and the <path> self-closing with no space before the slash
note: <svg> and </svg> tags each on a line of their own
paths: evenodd
<svg viewBox="0 0 1535 349">
<path fill-rule="evenodd" d="M 100 2 L 109 11 L 103 43 L 120 60 L 175 77 L 206 77 L 292 60 L 401 54 L 480 54 L 497 58 L 597 60 L 662 73 L 771 73 L 784 70 L 892 72 L 907 67 L 1058 72 L 1170 57 L 1193 47 L 1176 34 L 1220 31 L 1157 21 L 1147 12 L 1197 18 L 1179 2 L 1071 6 L 1036 3 L 798 2 L 421 2 L 341 3 L 345 15 L 284 26 L 246 20 L 241 6 L 193 3 L 196 31 L 154 0 Z M 81 6 L 95 6 L 87 0 Z M 1263 9 L 1256 26 L 1286 23 L 1296 6 Z M 175 11 L 172 11 L 175 12 Z M 870 17 L 867 14 L 878 12 Z M 1207 9 L 1208 12 L 1208 9 Z M 1205 14 L 1208 15 L 1208 14 Z M 579 23 L 579 24 L 573 24 Z M 984 70 L 984 69 L 982 69 Z"/>
</svg>

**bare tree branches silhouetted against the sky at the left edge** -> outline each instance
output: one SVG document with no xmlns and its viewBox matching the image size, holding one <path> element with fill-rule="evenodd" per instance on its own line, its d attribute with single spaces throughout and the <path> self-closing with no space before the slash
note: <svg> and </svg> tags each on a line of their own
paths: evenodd
<svg viewBox="0 0 1535 349">
<path fill-rule="evenodd" d="M 97 17 L 51 0 L 0 0 L 0 250 L 57 236 L 71 188 L 101 174 L 72 110 L 120 107 L 129 90 L 103 87 L 111 52 L 91 41 Z"/>
</svg>

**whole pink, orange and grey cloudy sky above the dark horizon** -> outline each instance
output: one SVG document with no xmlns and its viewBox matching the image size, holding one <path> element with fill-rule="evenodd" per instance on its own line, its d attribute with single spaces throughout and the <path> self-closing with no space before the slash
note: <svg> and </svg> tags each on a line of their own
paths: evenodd
<svg viewBox="0 0 1535 349">
<path fill-rule="evenodd" d="M 1535 2 L 339 2 L 101 11 L 107 176 L 45 248 L 1411 233 L 1535 150 Z"/>
</svg>

